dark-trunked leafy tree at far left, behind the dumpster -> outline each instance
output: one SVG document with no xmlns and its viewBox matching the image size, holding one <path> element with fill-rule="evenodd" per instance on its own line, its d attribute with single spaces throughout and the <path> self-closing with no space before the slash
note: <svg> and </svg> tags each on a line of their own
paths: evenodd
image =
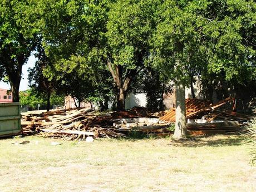
<svg viewBox="0 0 256 192">
<path fill-rule="evenodd" d="M 11 84 L 13 101 L 18 101 L 22 66 L 27 62 L 37 43 L 37 29 L 33 19 L 27 21 L 29 1 L 0 2 L 0 80 L 4 76 Z"/>
</svg>

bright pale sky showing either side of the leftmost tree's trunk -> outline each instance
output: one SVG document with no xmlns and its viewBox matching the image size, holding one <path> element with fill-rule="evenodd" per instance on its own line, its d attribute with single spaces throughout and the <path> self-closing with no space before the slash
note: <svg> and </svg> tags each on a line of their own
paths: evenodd
<svg viewBox="0 0 256 192">
<path fill-rule="evenodd" d="M 32 54 L 28 58 L 26 65 L 23 65 L 23 67 L 22 67 L 22 80 L 21 80 L 21 85 L 19 85 L 19 91 L 24 91 L 29 88 L 28 87 L 28 68 L 35 67 L 35 63 L 36 63 L 36 58 Z M 7 84 L 3 81 L 0 81 L 0 88 L 5 88 L 5 89 L 9 90 L 9 89 L 11 89 L 11 86 L 9 85 L 9 83 Z"/>
</svg>

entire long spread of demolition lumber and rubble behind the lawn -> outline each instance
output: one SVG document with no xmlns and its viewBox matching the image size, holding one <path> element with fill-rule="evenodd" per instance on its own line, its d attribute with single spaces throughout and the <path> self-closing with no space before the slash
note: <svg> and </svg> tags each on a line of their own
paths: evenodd
<svg viewBox="0 0 256 192">
<path fill-rule="evenodd" d="M 251 118 L 228 110 L 225 104 L 231 98 L 211 104 L 206 100 L 186 99 L 186 117 L 190 135 L 225 134 L 241 131 Z M 221 109 L 220 109 L 221 108 Z M 161 115 L 160 118 L 152 115 Z M 149 114 L 145 107 L 130 111 L 100 113 L 97 110 L 57 110 L 22 117 L 22 134 L 63 140 L 86 139 L 86 137 L 129 137 L 131 132 L 166 136 L 173 134 L 170 127 L 175 122 L 175 109 Z"/>
</svg>

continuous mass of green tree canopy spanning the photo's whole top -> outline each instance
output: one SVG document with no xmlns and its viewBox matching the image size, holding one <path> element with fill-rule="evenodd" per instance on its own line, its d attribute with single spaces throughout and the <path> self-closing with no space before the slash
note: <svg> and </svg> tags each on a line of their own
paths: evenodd
<svg viewBox="0 0 256 192">
<path fill-rule="evenodd" d="M 14 100 L 33 50 L 38 61 L 47 60 L 36 69 L 42 73 L 35 76 L 43 74 L 37 85 L 57 82 L 57 92 L 102 108 L 115 97 L 116 109 L 125 110 L 127 92 L 143 72 L 140 82 L 154 90 L 174 82 L 183 123 L 184 88 L 195 78 L 205 90 L 255 81 L 253 0 L 4 0 L 0 6 L 0 78 L 8 77 Z M 164 88 L 144 88 L 163 98 Z"/>
</svg>

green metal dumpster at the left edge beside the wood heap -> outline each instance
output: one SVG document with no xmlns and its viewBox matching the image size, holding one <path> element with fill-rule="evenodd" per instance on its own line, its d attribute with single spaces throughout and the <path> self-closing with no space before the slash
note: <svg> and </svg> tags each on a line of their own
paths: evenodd
<svg viewBox="0 0 256 192">
<path fill-rule="evenodd" d="M 21 132 L 19 102 L 0 104 L 0 137 L 18 135 Z"/>
</svg>

